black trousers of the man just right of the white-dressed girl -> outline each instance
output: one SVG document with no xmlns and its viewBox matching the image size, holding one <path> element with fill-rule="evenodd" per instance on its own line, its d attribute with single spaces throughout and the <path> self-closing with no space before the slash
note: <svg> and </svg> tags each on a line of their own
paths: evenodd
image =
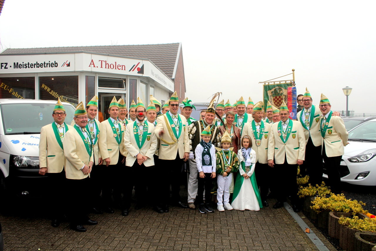
<svg viewBox="0 0 376 251">
<path fill-rule="evenodd" d="M 261 200 L 266 200 L 268 191 L 274 180 L 273 168 L 268 164 L 261 164 L 257 161 L 255 165 L 255 175 L 257 185 L 260 187 Z"/>
</svg>

